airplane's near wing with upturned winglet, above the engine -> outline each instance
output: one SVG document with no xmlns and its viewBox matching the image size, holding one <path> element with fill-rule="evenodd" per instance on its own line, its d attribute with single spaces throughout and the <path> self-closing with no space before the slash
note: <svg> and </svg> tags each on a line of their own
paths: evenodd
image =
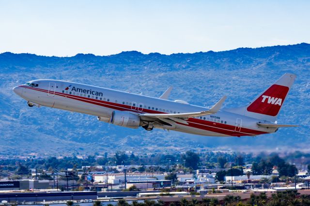
<svg viewBox="0 0 310 206">
<path fill-rule="evenodd" d="M 200 117 L 204 115 L 211 115 L 214 113 L 217 113 L 218 110 L 221 108 L 222 104 L 224 103 L 226 99 L 226 96 L 223 96 L 214 106 L 211 107 L 211 109 L 206 110 L 206 111 L 201 111 L 201 112 L 189 112 L 189 113 L 178 113 L 178 114 L 150 114 L 150 113 L 145 113 L 145 114 L 140 114 L 140 117 L 148 117 L 148 118 L 159 118 L 159 119 L 164 119 L 164 118 L 170 118 L 173 121 L 182 121 L 184 118 L 194 118 L 194 117 Z M 180 119 L 177 119 L 180 118 Z M 184 120 L 182 121 L 184 123 Z"/>
</svg>

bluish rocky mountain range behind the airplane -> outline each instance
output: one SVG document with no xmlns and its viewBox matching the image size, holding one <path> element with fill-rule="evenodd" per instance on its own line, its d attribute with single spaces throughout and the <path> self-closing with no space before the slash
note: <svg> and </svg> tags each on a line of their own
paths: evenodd
<svg viewBox="0 0 310 206">
<path fill-rule="evenodd" d="M 309 151 L 310 44 L 238 48 L 193 54 L 110 56 L 77 54 L 46 57 L 0 54 L 0 155 L 69 155 L 188 149 L 238 151 Z M 278 123 L 297 124 L 257 137 L 205 137 L 155 129 L 129 129 L 96 117 L 47 107 L 28 107 L 12 88 L 34 79 L 59 79 L 159 97 L 173 86 L 170 100 L 212 106 L 223 95 L 223 107 L 247 104 L 284 73 L 297 75 L 279 113 Z"/>
</svg>

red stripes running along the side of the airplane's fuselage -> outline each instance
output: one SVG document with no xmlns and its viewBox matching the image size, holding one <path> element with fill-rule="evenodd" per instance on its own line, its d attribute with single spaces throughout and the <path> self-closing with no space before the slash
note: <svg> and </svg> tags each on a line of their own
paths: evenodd
<svg viewBox="0 0 310 206">
<path fill-rule="evenodd" d="M 20 87 L 30 88 L 33 90 L 48 93 L 48 90 L 41 89 L 41 88 L 32 88 L 32 87 L 26 87 L 23 85 L 21 85 Z M 142 111 L 138 111 L 137 109 L 140 108 L 140 107 L 138 107 L 138 105 L 136 106 L 136 109 L 131 109 L 131 107 L 132 107 L 131 105 L 112 103 L 112 102 L 107 102 L 107 101 L 103 101 L 103 100 L 96 100 L 96 99 L 91 99 L 91 98 L 87 98 L 87 97 L 81 97 L 81 96 L 76 96 L 76 95 L 72 95 L 72 94 L 56 92 L 56 91 L 55 91 L 55 94 L 62 96 L 62 97 L 66 97 L 66 98 L 70 98 L 70 99 L 74 99 L 74 100 L 78 100 L 78 101 L 82 101 L 82 102 L 86 102 L 86 103 L 92 103 L 92 104 L 96 104 L 99 106 L 104 106 L 104 107 L 108 107 L 108 108 L 116 109 L 116 110 L 120 110 L 120 111 L 133 111 L 136 113 L 150 113 L 150 114 L 167 114 L 165 112 L 159 112 L 159 111 L 154 111 L 154 110 L 144 109 L 144 108 L 141 108 Z M 206 120 L 196 119 L 196 118 L 188 118 L 188 120 L 187 120 L 188 125 L 182 124 L 179 122 L 176 122 L 176 123 L 184 125 L 184 126 L 194 127 L 197 129 L 211 131 L 211 132 L 222 133 L 222 134 L 226 134 L 226 135 L 230 135 L 230 136 L 248 136 L 248 135 L 257 135 L 257 134 L 268 133 L 268 132 L 262 132 L 262 131 L 248 129 L 248 128 L 241 128 L 240 132 L 236 132 L 236 131 L 234 131 L 235 126 L 233 126 L 233 125 L 222 124 L 222 123 L 212 122 L 212 121 L 206 121 Z"/>
</svg>

